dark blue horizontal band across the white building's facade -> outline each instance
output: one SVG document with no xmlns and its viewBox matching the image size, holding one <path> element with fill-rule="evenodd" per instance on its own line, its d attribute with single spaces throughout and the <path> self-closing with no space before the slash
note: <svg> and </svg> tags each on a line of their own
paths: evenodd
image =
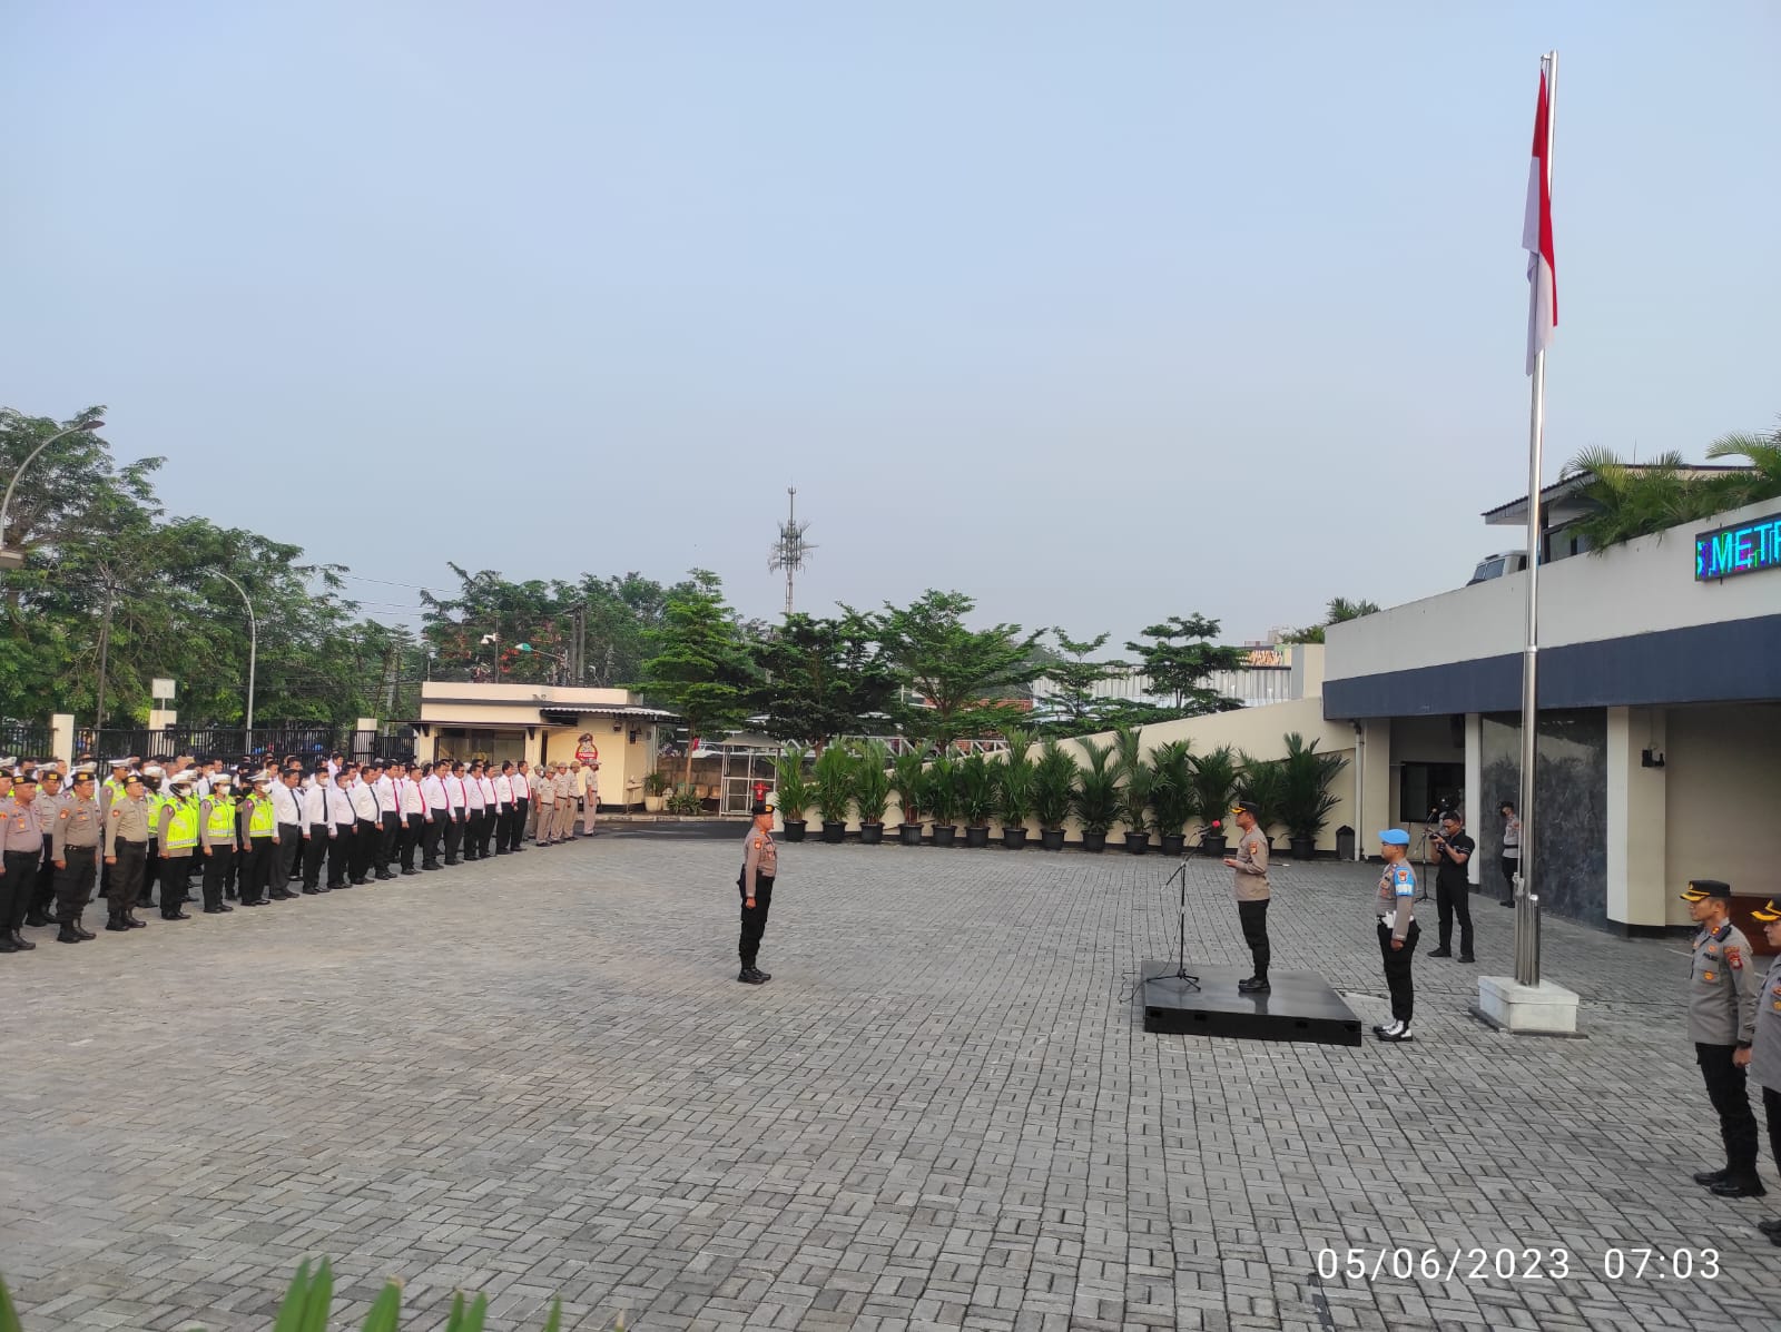
<svg viewBox="0 0 1781 1332">
<path fill-rule="evenodd" d="M 1781 614 L 1541 648 L 1541 707 L 1781 698 Z M 1521 654 L 1323 682 L 1323 716 L 1519 712 Z"/>
</svg>

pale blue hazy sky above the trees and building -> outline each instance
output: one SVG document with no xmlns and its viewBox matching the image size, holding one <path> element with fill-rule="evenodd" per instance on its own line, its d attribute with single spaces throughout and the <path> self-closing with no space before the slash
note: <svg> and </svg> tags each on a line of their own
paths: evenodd
<svg viewBox="0 0 1781 1332">
<path fill-rule="evenodd" d="M 388 584 L 771 616 L 796 484 L 803 609 L 1254 638 L 1519 543 L 1549 46 L 1548 477 L 1770 427 L 1770 0 L 12 0 L 0 402 Z"/>
</svg>

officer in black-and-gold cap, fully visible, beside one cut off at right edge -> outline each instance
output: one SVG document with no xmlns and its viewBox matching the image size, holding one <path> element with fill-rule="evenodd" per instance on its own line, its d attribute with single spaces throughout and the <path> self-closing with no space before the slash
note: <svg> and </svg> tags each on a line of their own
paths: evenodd
<svg viewBox="0 0 1781 1332">
<path fill-rule="evenodd" d="M 1756 1117 L 1745 1090 L 1758 1001 L 1751 940 L 1731 924 L 1729 883 L 1697 878 L 1681 899 L 1701 926 L 1688 978 L 1688 1040 L 1726 1143 L 1726 1168 L 1696 1172 L 1694 1182 L 1722 1198 L 1760 1198 L 1765 1190 L 1756 1177 Z"/>
</svg>

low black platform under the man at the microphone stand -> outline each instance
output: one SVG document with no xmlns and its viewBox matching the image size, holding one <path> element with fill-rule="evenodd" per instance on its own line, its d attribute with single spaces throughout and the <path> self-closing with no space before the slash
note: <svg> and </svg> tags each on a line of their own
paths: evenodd
<svg viewBox="0 0 1781 1332">
<path fill-rule="evenodd" d="M 1238 1040 L 1309 1040 L 1359 1045 L 1361 1019 L 1329 983 L 1309 971 L 1277 971 L 1268 994 L 1240 994 L 1240 967 L 1188 963 L 1200 979 L 1193 990 L 1175 979 L 1174 962 L 1143 963 L 1143 1029 Z"/>
</svg>

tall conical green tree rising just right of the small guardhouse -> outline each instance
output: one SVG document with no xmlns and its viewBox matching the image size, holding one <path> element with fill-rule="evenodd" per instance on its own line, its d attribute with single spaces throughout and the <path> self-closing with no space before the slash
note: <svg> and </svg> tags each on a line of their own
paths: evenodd
<svg viewBox="0 0 1781 1332">
<path fill-rule="evenodd" d="M 696 568 L 691 582 L 668 598 L 663 625 L 650 632 L 654 657 L 643 662 L 650 693 L 680 714 L 687 739 L 741 727 L 759 677 L 723 600 L 723 582 Z M 686 778 L 693 782 L 693 746 L 686 746 Z"/>
</svg>

